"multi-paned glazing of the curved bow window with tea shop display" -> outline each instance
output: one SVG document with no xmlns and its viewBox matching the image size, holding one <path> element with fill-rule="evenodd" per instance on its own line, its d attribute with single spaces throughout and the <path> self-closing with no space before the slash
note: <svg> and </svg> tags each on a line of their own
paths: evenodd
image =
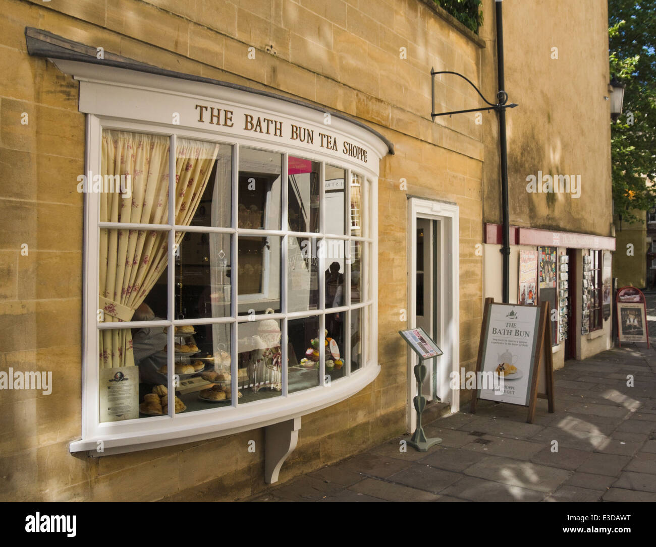
<svg viewBox="0 0 656 547">
<path fill-rule="evenodd" d="M 253 143 L 98 132 L 99 424 L 238 415 L 366 366 L 371 178 Z"/>
</svg>

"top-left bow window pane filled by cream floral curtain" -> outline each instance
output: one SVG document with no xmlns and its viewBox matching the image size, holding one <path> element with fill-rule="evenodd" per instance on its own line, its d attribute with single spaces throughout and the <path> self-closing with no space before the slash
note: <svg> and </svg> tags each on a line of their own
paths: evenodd
<svg viewBox="0 0 656 547">
<path fill-rule="evenodd" d="M 82 181 L 85 191 L 100 193 L 100 222 L 167 223 L 169 141 L 161 135 L 102 130 L 100 175 Z"/>
</svg>

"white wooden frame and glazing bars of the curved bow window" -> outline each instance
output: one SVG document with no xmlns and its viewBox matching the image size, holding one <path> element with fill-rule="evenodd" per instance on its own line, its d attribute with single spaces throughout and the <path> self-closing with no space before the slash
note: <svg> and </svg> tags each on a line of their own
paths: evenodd
<svg viewBox="0 0 656 547">
<path fill-rule="evenodd" d="M 85 248 L 84 248 L 84 280 L 83 280 L 83 389 L 82 389 L 82 438 L 81 440 L 72 442 L 70 444 L 71 452 L 78 451 L 92 451 L 96 453 L 96 447 L 99 441 L 104 445 L 104 451 L 97 455 L 109 455 L 113 453 L 123 453 L 141 449 L 150 449 L 154 447 L 161 447 L 165 445 L 174 445 L 178 443 L 186 443 L 194 440 L 202 440 L 207 438 L 216 438 L 228 434 L 234 434 L 245 430 L 260 428 L 276 424 L 282 421 L 289 421 L 307 413 L 315 412 L 321 408 L 337 404 L 338 402 L 356 394 L 359 390 L 364 388 L 374 379 L 380 372 L 380 365 L 377 360 L 377 295 L 378 295 L 378 242 L 377 242 L 377 177 L 378 177 L 378 161 L 384 155 L 386 147 L 382 145 L 382 141 L 368 134 L 362 128 L 348 121 L 333 119 L 333 124 L 337 126 L 333 130 L 341 131 L 348 135 L 352 140 L 359 140 L 360 142 L 367 143 L 371 151 L 375 151 L 377 160 L 371 165 L 362 166 L 355 162 L 355 160 L 336 159 L 335 155 L 329 153 L 321 153 L 316 150 L 308 151 L 302 147 L 295 147 L 290 145 L 289 142 L 277 145 L 270 141 L 263 142 L 258 138 L 245 138 L 243 136 L 236 136 L 233 134 L 226 134 L 225 132 L 203 132 L 195 128 L 182 125 L 167 125 L 162 123 L 153 123 L 149 120 L 135 121 L 133 119 L 121 118 L 117 115 L 108 115 L 107 113 L 94 113 L 89 111 L 90 108 L 83 107 L 84 105 L 94 104 L 99 105 L 98 109 L 102 110 L 105 105 L 121 99 L 116 98 L 116 94 L 123 95 L 123 103 L 126 102 L 126 97 L 130 96 L 130 88 L 150 89 L 154 93 L 166 93 L 166 84 L 171 84 L 176 92 L 179 91 L 180 82 L 168 77 L 155 76 L 150 74 L 134 73 L 136 83 L 125 85 L 125 83 L 117 83 L 116 77 L 123 78 L 121 69 L 111 67 L 87 67 L 84 63 L 57 61 L 58 66 L 68 73 L 74 73 L 76 79 L 81 80 L 80 96 L 81 96 L 81 111 L 87 113 L 87 143 L 86 143 L 86 166 L 85 172 L 92 171 L 94 173 L 100 172 L 100 139 L 102 136 L 102 128 L 115 128 L 125 131 L 133 132 L 146 132 L 155 134 L 173 134 L 171 138 L 171 159 L 170 170 L 174 168 L 175 159 L 175 142 L 176 138 L 193 138 L 203 141 L 216 141 L 222 144 L 233 145 L 233 164 L 232 164 L 232 227 L 230 228 L 212 228 L 201 226 L 180 226 L 176 227 L 172 224 L 161 225 L 158 228 L 166 229 L 169 231 L 197 231 L 203 233 L 230 233 L 232 235 L 232 265 L 236 265 L 237 255 L 237 233 L 243 235 L 275 235 L 281 237 L 281 312 L 278 314 L 268 314 L 266 318 L 279 319 L 281 322 L 281 335 L 283 340 L 287 339 L 287 319 L 306 317 L 312 315 L 319 315 L 319 328 L 323 329 L 325 324 L 325 313 L 334 313 L 337 311 L 346 312 L 348 310 L 357 310 L 365 308 L 365 334 L 363 335 L 363 348 L 362 348 L 362 366 L 357 371 L 350 371 L 350 321 L 345 321 L 344 325 L 344 347 L 346 356 L 344 358 L 344 368 L 346 369 L 344 378 L 333 381 L 330 386 L 324 385 L 324 365 L 323 359 L 319 360 L 319 378 L 320 385 L 306 390 L 287 393 L 287 366 L 286 366 L 286 352 L 287 345 L 281 345 L 283 367 L 282 367 L 282 381 L 285 389 L 280 396 L 275 398 L 264 399 L 256 402 L 251 402 L 245 405 L 239 405 L 237 398 L 234 398 L 231 406 L 223 408 L 213 408 L 202 411 L 194 411 L 192 413 L 174 414 L 171 411 L 169 416 L 152 417 L 148 419 L 133 419 L 127 421 L 100 423 L 98 411 L 98 336 L 99 330 L 105 328 L 117 328 L 119 324 L 98 324 L 96 320 L 96 311 L 98 309 L 98 234 L 100 227 L 107 228 L 130 228 L 143 229 L 144 225 L 131 225 L 127 223 L 117 223 L 111 225 L 110 223 L 98 223 L 98 195 L 92 193 L 85 194 Z M 108 70 L 107 70 L 108 69 Z M 86 71 L 86 72 L 85 72 Z M 116 73 L 115 71 L 119 71 Z M 123 71 L 127 72 L 127 71 Z M 106 77 L 99 79 L 98 75 Z M 115 76 L 115 77 L 114 77 Z M 168 82 L 174 80 L 173 83 Z M 85 85 L 87 83 L 87 85 Z M 185 82 L 182 84 L 188 91 L 194 90 L 193 98 L 198 100 L 235 100 L 235 90 L 223 90 L 218 86 L 211 86 L 194 82 Z M 217 90 L 218 88 L 218 90 Z M 200 91 L 209 92 L 212 90 L 213 95 L 209 96 L 200 94 Z M 86 96 L 83 97 L 83 94 Z M 245 104 L 249 107 L 257 108 L 262 103 L 262 98 L 255 96 L 252 98 L 246 92 L 243 94 Z M 92 98 L 89 98 L 89 95 Z M 172 93 L 174 94 L 174 93 Z M 98 96 L 102 95 L 102 96 Z M 224 95 L 227 98 L 222 99 Z M 103 101 L 103 99 L 105 99 Z M 127 101 L 129 102 L 129 101 Z M 312 123 L 320 123 L 323 116 L 316 111 L 309 111 L 302 106 L 289 104 L 281 100 L 274 100 L 267 98 L 266 103 L 270 105 L 274 102 L 277 107 L 279 115 L 287 115 L 289 117 L 297 117 L 301 121 L 306 118 L 312 120 Z M 251 106 L 252 105 L 252 106 Z M 111 107 L 108 107 L 111 110 Z M 126 107 L 126 111 L 132 112 L 130 105 Z M 308 112 L 309 111 L 309 112 Z M 309 123 L 309 122 L 308 122 Z M 350 133 L 349 133 L 350 131 Z M 356 140 L 356 141 L 357 141 Z M 345 208 L 345 235 L 332 235 L 320 233 L 307 233 L 303 234 L 307 237 L 327 239 L 345 240 L 345 246 L 349 245 L 350 240 L 361 240 L 367 247 L 365 252 L 365 260 L 362 263 L 361 274 L 361 300 L 362 302 L 355 305 L 350 305 L 350 286 L 346 286 L 349 276 L 344 276 L 344 305 L 339 308 L 319 309 L 317 311 L 301 311 L 285 313 L 287 305 L 287 238 L 289 236 L 298 235 L 289 231 L 282 230 L 239 230 L 236 229 L 236 210 L 237 210 L 237 172 L 239 170 L 238 150 L 239 146 L 244 145 L 247 147 L 256 147 L 259 149 L 266 149 L 272 152 L 279 152 L 283 154 L 283 172 L 281 174 L 281 190 L 283 193 L 283 204 L 281 211 L 281 221 L 287 222 L 287 154 L 298 155 L 300 157 L 312 159 L 322 163 L 321 181 L 323 181 L 323 165 L 331 164 L 344 168 L 346 170 L 346 179 L 344 183 L 344 208 Z M 371 152 L 370 152 L 371 153 Z M 363 226 L 363 236 L 355 237 L 350 236 L 350 181 L 351 170 L 358 172 L 363 176 L 363 181 L 366 181 L 369 192 L 365 193 L 363 201 L 363 214 L 365 215 L 366 226 Z M 174 178 L 171 184 L 174 182 Z M 324 202 L 324 191 L 321 185 L 321 204 Z M 171 193 L 174 195 L 174 192 Z M 169 207 L 170 204 L 169 204 Z M 346 214 L 348 210 L 348 214 Z M 169 219 L 173 219 L 173 211 L 169 209 Z M 321 207 L 321 229 L 323 230 L 323 206 Z M 285 228 L 287 226 L 285 225 Z M 346 254 L 345 248 L 345 254 Z M 350 252 L 350 248 L 348 249 Z M 169 237 L 169 264 L 173 263 L 174 249 L 173 238 Z M 348 273 L 350 274 L 350 265 L 346 265 Z M 319 293 L 321 295 L 320 305 L 323 307 L 323 286 L 324 286 L 324 271 L 325 261 L 319 261 Z M 232 317 L 230 318 L 212 318 L 212 319 L 188 319 L 175 321 L 176 325 L 185 324 L 221 324 L 233 323 L 237 325 L 247 320 L 247 316 L 237 316 L 237 290 L 236 278 L 233 284 L 233 298 L 232 298 Z M 173 269 L 169 269 L 169 291 L 173 287 Z M 169 317 L 174 319 L 173 302 L 169 301 Z M 258 314 L 255 320 L 264 318 L 263 314 Z M 173 321 L 142 321 L 142 322 L 123 322 L 120 328 L 136 328 L 145 326 L 171 326 Z M 169 347 L 173 347 L 174 330 L 169 328 Z M 232 328 L 232 362 L 236 367 L 236 351 L 237 351 L 237 330 Z M 322 349 L 323 353 L 323 349 Z M 169 354 L 169 369 L 173 369 L 173 353 Z M 232 388 L 236 391 L 237 375 L 233 375 Z M 173 386 L 173 376 L 169 377 L 169 388 Z"/>
</svg>

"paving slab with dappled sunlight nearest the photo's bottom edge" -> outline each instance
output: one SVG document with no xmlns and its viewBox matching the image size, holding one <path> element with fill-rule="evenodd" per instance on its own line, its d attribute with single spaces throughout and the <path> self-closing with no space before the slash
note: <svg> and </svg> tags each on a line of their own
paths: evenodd
<svg viewBox="0 0 656 547">
<path fill-rule="evenodd" d="M 552 492 L 569 478 L 563 469 L 495 456 L 469 466 L 464 474 L 541 492 Z"/>
</svg>

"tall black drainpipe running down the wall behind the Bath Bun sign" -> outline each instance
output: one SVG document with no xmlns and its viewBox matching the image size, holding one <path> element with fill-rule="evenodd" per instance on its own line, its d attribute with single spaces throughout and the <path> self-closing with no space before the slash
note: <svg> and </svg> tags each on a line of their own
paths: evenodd
<svg viewBox="0 0 656 547">
<path fill-rule="evenodd" d="M 497 15 L 497 79 L 499 80 L 499 94 L 504 90 L 503 73 L 503 17 L 501 2 L 495 2 Z M 510 219 L 508 218 L 508 148 L 506 145 L 506 109 L 497 110 L 499 113 L 499 145 L 501 146 L 501 212 L 503 225 L 503 301 L 509 302 L 510 297 Z"/>
</svg>

